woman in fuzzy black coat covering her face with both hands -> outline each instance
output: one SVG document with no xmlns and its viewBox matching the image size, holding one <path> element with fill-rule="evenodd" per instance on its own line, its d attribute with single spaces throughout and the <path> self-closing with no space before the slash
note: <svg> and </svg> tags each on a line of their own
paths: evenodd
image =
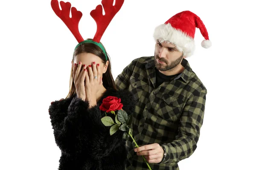
<svg viewBox="0 0 256 170">
<path fill-rule="evenodd" d="M 93 43 L 79 45 L 73 54 L 69 94 L 49 107 L 55 141 L 61 149 L 59 170 L 125 169 L 124 132 L 118 130 L 111 136 L 110 127 L 101 122 L 105 112 L 99 106 L 108 96 L 120 98 L 128 115 L 134 111 L 132 94 L 116 90 L 109 56 Z M 112 113 L 107 114 L 114 119 Z"/>
</svg>

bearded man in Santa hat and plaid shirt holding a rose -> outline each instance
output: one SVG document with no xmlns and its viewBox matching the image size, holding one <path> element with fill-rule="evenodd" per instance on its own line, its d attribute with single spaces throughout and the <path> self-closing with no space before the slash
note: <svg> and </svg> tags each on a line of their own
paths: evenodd
<svg viewBox="0 0 256 170">
<path fill-rule="evenodd" d="M 179 170 L 197 147 L 207 89 L 185 59 L 193 54 L 196 27 L 209 48 L 203 22 L 183 11 L 155 29 L 154 56 L 134 59 L 116 78 L 137 99 L 131 132 L 140 147 L 128 138 L 128 170 L 147 170 L 142 156 L 152 170 Z"/>
</svg>

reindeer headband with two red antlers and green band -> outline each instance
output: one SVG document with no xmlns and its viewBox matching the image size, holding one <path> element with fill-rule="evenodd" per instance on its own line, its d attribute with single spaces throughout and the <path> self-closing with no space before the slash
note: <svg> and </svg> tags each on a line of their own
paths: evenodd
<svg viewBox="0 0 256 170">
<path fill-rule="evenodd" d="M 81 11 L 77 11 L 75 7 L 71 8 L 71 4 L 69 2 L 64 3 L 63 1 L 60 2 L 61 9 L 62 9 L 60 10 L 58 0 L 52 0 L 51 6 L 55 14 L 66 24 L 67 28 L 70 29 L 70 31 L 72 32 L 76 40 L 79 42 L 79 44 L 76 45 L 76 48 L 79 45 L 84 43 L 93 43 L 95 45 L 98 45 L 102 49 L 102 51 L 106 56 L 106 60 L 108 60 L 105 48 L 99 42 L 105 30 L 107 29 L 109 23 L 111 22 L 113 17 L 116 15 L 116 13 L 120 10 L 123 3 L 124 3 L 124 0 L 116 0 L 115 5 L 113 6 L 113 0 L 102 0 L 102 6 L 104 8 L 105 15 L 102 14 L 101 5 L 96 6 L 96 8 L 90 12 L 90 15 L 93 17 L 93 19 L 96 21 L 96 24 L 97 24 L 97 31 L 93 37 L 93 40 L 84 40 L 79 32 L 78 25 L 82 17 Z M 71 18 L 70 18 L 70 8 L 71 8 L 71 14 L 72 14 Z"/>
</svg>

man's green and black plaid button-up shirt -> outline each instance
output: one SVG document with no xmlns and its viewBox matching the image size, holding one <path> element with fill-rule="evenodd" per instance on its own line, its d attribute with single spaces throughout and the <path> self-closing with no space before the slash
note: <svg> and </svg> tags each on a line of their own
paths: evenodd
<svg viewBox="0 0 256 170">
<path fill-rule="evenodd" d="M 149 164 L 152 170 L 179 170 L 178 162 L 192 155 L 203 124 L 207 89 L 189 66 L 156 87 L 154 57 L 134 59 L 116 78 L 119 89 L 129 89 L 137 99 L 132 135 L 139 146 L 164 144 L 166 158 Z M 127 170 L 147 170 L 142 156 L 128 138 Z"/>
</svg>

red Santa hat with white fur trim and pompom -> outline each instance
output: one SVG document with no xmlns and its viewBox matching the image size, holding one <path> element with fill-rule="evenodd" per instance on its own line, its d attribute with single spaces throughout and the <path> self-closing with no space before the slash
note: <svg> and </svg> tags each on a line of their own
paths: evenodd
<svg viewBox="0 0 256 170">
<path fill-rule="evenodd" d="M 169 41 L 176 45 L 185 57 L 190 57 L 195 50 L 195 28 L 200 29 L 205 39 L 201 42 L 202 47 L 209 48 L 212 46 L 203 21 L 191 11 L 175 14 L 164 24 L 157 26 L 154 31 L 154 39 L 160 42 Z"/>
</svg>

